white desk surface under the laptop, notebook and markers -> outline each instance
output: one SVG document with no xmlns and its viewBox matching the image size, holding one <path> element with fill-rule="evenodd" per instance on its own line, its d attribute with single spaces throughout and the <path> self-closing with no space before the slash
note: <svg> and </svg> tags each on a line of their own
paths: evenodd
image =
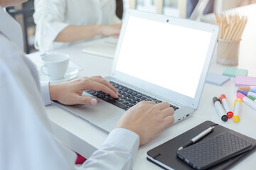
<svg viewBox="0 0 256 170">
<path fill-rule="evenodd" d="M 245 28 L 245 32 L 242 35 L 242 42 L 240 44 L 240 58 L 238 68 L 248 69 L 248 76 L 256 77 L 256 5 L 245 6 L 237 8 L 235 11 L 244 13 L 248 16 L 249 20 Z M 70 55 L 70 60 L 82 67 L 80 77 L 90 77 L 94 75 L 102 75 L 102 77 L 109 76 L 112 66 L 112 59 L 105 57 L 97 57 L 93 55 L 86 55 L 82 53 L 82 48 L 85 44 L 77 44 L 71 47 L 55 50 L 55 52 L 62 52 Z M 215 63 L 215 57 L 210 66 L 210 72 L 221 74 L 224 70 L 224 66 Z M 235 79 L 231 78 L 223 86 L 214 86 L 206 84 L 203 89 L 203 95 L 201 97 L 198 110 L 191 115 L 190 118 L 186 118 L 175 125 L 167 128 L 154 140 L 142 147 L 139 147 L 137 153 L 137 159 L 133 169 L 161 169 L 159 166 L 152 164 L 146 160 L 146 152 L 162 143 L 170 140 L 177 135 L 180 135 L 186 130 L 193 128 L 194 126 L 202 123 L 205 120 L 211 120 L 215 123 L 223 125 L 227 128 L 231 128 L 237 132 L 245 134 L 249 137 L 256 139 L 256 111 L 242 104 L 241 120 L 239 123 L 234 123 L 233 120 L 229 120 L 224 123 L 218 117 L 215 108 L 213 106 L 213 96 L 220 96 L 225 94 L 228 97 L 230 106 L 235 100 Z M 71 149 L 82 154 L 84 157 L 90 157 L 90 154 L 102 145 L 107 132 L 96 128 L 86 120 L 68 113 L 62 108 L 55 106 L 54 104 L 46 108 L 48 118 L 50 118 L 53 131 L 60 140 L 68 145 Z M 233 169 L 252 169 L 256 165 L 255 162 L 256 152 L 240 164 L 233 167 Z"/>
</svg>

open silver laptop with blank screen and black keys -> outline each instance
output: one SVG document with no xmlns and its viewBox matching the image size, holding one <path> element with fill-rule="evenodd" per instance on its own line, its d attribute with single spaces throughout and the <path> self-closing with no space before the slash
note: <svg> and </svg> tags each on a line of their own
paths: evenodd
<svg viewBox="0 0 256 170">
<path fill-rule="evenodd" d="M 84 91 L 83 96 L 97 98 L 96 106 L 60 106 L 110 132 L 139 101 L 167 101 L 177 123 L 198 108 L 218 31 L 218 26 L 208 23 L 130 10 L 111 75 L 105 77 L 118 89 L 119 99 Z"/>
</svg>

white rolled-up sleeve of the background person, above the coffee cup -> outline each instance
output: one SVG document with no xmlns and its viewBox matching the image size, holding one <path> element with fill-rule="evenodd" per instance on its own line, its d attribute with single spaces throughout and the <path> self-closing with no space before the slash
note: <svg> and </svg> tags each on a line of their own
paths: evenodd
<svg viewBox="0 0 256 170">
<path fill-rule="evenodd" d="M 65 0 L 36 0 L 35 13 L 36 23 L 35 47 L 40 51 L 48 51 L 58 34 L 68 26 L 65 23 Z"/>
</svg>

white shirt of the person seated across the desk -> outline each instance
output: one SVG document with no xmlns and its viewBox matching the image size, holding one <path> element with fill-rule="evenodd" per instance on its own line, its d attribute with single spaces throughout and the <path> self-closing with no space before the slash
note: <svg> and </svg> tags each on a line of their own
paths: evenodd
<svg viewBox="0 0 256 170">
<path fill-rule="evenodd" d="M 35 47 L 41 51 L 65 47 L 71 42 L 53 42 L 67 26 L 120 23 L 115 0 L 35 0 Z"/>
</svg>

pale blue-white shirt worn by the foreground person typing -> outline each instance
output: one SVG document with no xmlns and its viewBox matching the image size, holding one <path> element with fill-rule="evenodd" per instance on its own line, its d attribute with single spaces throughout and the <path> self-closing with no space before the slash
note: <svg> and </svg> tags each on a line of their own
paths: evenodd
<svg viewBox="0 0 256 170">
<path fill-rule="evenodd" d="M 0 23 L 14 23 L 1 6 L 0 18 Z M 75 166 L 75 153 L 52 135 L 36 67 L 6 30 L 0 28 L 0 169 L 131 169 L 139 136 L 125 129 L 112 130 L 100 149 Z"/>
</svg>

